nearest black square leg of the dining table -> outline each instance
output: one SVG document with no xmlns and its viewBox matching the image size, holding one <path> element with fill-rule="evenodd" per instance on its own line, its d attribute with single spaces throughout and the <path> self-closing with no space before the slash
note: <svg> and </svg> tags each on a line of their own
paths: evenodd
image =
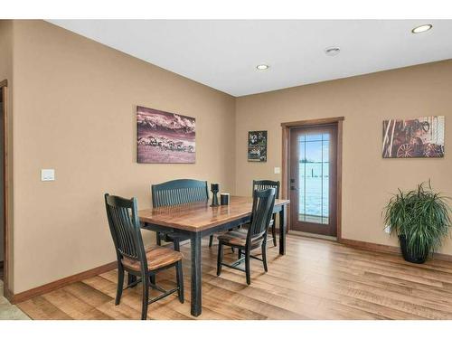
<svg viewBox="0 0 452 339">
<path fill-rule="evenodd" d="M 201 271 L 201 233 L 193 232 L 190 240 L 192 247 L 192 315 L 202 312 L 202 271 Z"/>
</svg>

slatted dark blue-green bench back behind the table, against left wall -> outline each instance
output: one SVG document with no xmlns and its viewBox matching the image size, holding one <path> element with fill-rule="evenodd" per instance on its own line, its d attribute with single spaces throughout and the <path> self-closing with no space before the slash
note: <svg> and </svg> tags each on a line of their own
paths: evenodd
<svg viewBox="0 0 452 339">
<path fill-rule="evenodd" d="M 193 179 L 178 179 L 163 184 L 153 184 L 151 192 L 153 207 L 209 200 L 207 182 Z"/>
</svg>

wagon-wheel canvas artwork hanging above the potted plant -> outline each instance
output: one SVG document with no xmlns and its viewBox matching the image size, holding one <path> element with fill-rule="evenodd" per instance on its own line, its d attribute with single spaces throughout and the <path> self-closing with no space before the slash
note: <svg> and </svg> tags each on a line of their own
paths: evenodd
<svg viewBox="0 0 452 339">
<path fill-rule="evenodd" d="M 383 121 L 383 157 L 443 157 L 444 117 Z"/>
</svg>

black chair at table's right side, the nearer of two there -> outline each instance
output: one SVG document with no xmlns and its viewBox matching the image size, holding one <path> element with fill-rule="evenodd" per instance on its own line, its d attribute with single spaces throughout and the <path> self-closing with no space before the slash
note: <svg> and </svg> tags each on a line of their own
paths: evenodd
<svg viewBox="0 0 452 339">
<path fill-rule="evenodd" d="M 250 258 L 258 259 L 263 262 L 264 269 L 267 272 L 267 232 L 268 226 L 272 217 L 273 207 L 275 205 L 274 188 L 268 188 L 263 191 L 254 191 L 253 193 L 253 207 L 251 212 L 251 222 L 248 231 L 229 231 L 221 234 L 218 237 L 218 258 L 217 258 L 217 276 L 221 274 L 221 267 L 239 269 L 238 266 L 245 260 L 245 273 L 247 277 L 247 284 L 251 284 L 250 278 Z M 223 246 L 229 246 L 232 249 L 239 250 L 239 259 L 231 264 L 223 262 Z M 262 259 L 251 255 L 251 250 L 261 248 Z M 244 252 L 245 256 L 241 254 Z"/>
</svg>

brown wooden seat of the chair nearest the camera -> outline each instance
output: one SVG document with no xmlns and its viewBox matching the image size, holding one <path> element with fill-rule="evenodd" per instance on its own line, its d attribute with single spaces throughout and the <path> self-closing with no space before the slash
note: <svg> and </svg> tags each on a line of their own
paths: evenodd
<svg viewBox="0 0 452 339">
<path fill-rule="evenodd" d="M 146 249 L 147 269 L 155 270 L 164 268 L 165 266 L 174 264 L 174 262 L 183 259 L 181 252 L 171 250 L 163 246 L 154 246 Z M 138 260 L 124 258 L 121 260 L 125 268 L 133 269 L 135 271 L 141 270 L 141 264 Z"/>
</svg>

